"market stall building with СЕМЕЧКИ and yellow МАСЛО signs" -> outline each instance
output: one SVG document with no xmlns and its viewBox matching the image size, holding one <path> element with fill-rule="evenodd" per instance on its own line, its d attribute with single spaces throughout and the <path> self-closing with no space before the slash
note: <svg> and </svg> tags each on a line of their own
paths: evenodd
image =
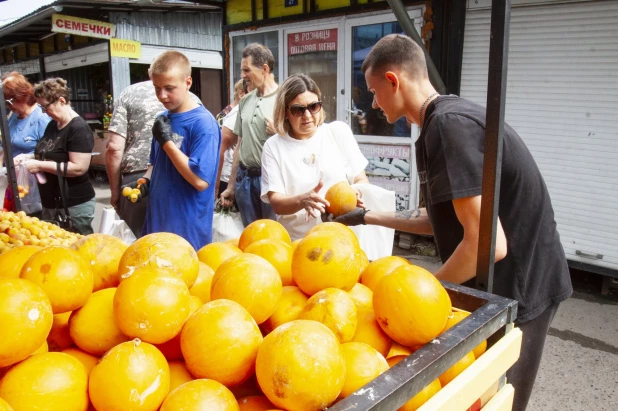
<svg viewBox="0 0 618 411">
<path fill-rule="evenodd" d="M 59 0 L 0 28 L 0 74 L 18 71 L 32 83 L 61 77 L 71 104 L 91 126 L 91 169 L 105 170 L 113 102 L 165 50 L 185 54 L 191 91 L 213 113 L 223 107 L 221 10 L 163 2 Z"/>
</svg>

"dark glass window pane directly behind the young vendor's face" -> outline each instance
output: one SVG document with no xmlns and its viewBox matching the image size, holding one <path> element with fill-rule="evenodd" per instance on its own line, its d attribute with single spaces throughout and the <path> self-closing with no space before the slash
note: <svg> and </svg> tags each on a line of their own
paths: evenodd
<svg viewBox="0 0 618 411">
<path fill-rule="evenodd" d="M 352 28 L 352 119 L 354 134 L 372 136 L 410 137 L 410 124 L 404 117 L 395 124 L 389 124 L 379 109 L 371 108 L 373 95 L 367 90 L 361 66 L 371 48 L 382 37 L 403 33 L 399 23 L 379 23 Z"/>
</svg>

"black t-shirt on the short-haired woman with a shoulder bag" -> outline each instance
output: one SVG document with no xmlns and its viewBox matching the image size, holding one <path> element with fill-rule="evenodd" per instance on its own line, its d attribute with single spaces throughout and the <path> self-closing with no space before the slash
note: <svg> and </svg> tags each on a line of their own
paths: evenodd
<svg viewBox="0 0 618 411">
<path fill-rule="evenodd" d="M 66 163 L 69 161 L 69 152 L 92 153 L 93 147 L 94 136 L 88 123 L 81 117 L 75 117 L 62 130 L 58 130 L 58 123 L 50 121 L 45 134 L 34 149 L 34 155 L 37 160 Z M 64 170 L 64 167 L 61 170 Z M 39 184 L 43 207 L 63 208 L 57 175 L 45 173 L 45 176 L 47 182 Z M 67 182 L 69 185 L 68 207 L 85 203 L 94 197 L 94 188 L 87 172 L 81 176 L 68 177 Z"/>
</svg>

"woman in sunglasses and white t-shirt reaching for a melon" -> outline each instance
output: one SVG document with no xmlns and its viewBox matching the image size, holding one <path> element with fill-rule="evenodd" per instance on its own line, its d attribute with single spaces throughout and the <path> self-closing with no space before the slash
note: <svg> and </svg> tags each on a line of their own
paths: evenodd
<svg viewBox="0 0 618 411">
<path fill-rule="evenodd" d="M 290 76 L 275 102 L 277 134 L 262 151 L 262 201 L 271 204 L 293 240 L 322 221 L 329 187 L 340 181 L 369 182 L 367 159 L 352 130 L 340 121 L 324 124 L 321 98 L 309 76 Z"/>
</svg>

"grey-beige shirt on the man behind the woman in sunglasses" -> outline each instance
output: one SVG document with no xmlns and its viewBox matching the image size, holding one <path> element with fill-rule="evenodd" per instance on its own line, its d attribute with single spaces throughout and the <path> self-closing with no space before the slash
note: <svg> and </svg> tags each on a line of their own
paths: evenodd
<svg viewBox="0 0 618 411">
<path fill-rule="evenodd" d="M 266 96 L 258 96 L 253 90 L 240 100 L 234 133 L 242 138 L 238 152 L 240 163 L 247 168 L 262 166 L 262 147 L 266 134 L 266 117 L 273 118 L 277 90 Z"/>
</svg>

